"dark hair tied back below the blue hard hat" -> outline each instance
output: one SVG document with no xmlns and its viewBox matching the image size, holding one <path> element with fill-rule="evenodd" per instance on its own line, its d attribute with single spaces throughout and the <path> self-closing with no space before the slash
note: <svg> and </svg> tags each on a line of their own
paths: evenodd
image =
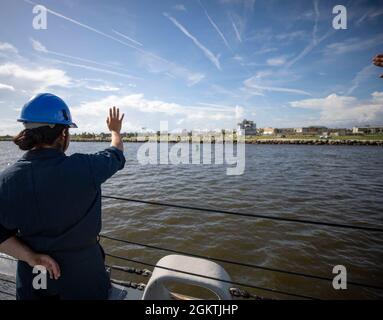
<svg viewBox="0 0 383 320">
<path fill-rule="evenodd" d="M 56 124 L 53 128 L 44 126 L 35 129 L 25 129 L 13 138 L 13 142 L 21 150 L 31 150 L 42 145 L 53 145 L 63 130 L 68 132 L 68 126 Z M 55 147 L 61 148 L 59 145 Z"/>
</svg>

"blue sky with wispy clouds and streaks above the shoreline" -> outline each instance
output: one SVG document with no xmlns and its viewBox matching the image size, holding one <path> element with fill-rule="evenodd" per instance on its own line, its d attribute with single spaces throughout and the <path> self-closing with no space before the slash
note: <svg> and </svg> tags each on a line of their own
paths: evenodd
<svg viewBox="0 0 383 320">
<path fill-rule="evenodd" d="M 38 92 L 61 96 L 77 132 L 383 124 L 383 1 L 0 0 L 0 134 Z M 35 4 L 46 30 L 32 26 Z M 337 4 L 347 30 L 332 27 Z"/>
</svg>

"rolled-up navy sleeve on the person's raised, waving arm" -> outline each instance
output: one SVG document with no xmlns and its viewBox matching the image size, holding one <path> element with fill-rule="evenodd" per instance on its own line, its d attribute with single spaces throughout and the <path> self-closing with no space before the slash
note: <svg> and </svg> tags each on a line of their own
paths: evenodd
<svg viewBox="0 0 383 320">
<path fill-rule="evenodd" d="M 96 185 L 101 185 L 125 166 L 124 153 L 115 147 L 91 154 L 89 157 Z"/>
</svg>

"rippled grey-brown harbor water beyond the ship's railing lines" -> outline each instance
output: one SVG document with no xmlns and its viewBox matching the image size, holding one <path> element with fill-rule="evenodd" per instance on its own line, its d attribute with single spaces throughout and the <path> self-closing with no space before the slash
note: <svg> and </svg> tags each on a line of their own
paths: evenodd
<svg viewBox="0 0 383 320">
<path fill-rule="evenodd" d="M 372 146 L 246 145 L 245 171 L 225 165 L 142 165 L 141 144 L 125 144 L 124 170 L 103 185 L 105 195 L 171 202 L 251 214 L 383 226 L 383 149 Z M 92 153 L 107 143 L 72 143 L 68 154 Z M 22 155 L 0 142 L 0 170 Z M 54 208 L 52 208 L 54 210 Z M 103 200 L 103 233 L 165 248 L 383 286 L 381 233 Z M 156 263 L 166 254 L 111 240 L 107 252 Z M 109 263 L 144 267 L 119 260 Z M 223 264 L 235 281 L 322 299 L 382 298 L 383 291 Z M 198 270 L 196 270 L 198 273 Z M 121 279 L 142 281 L 129 274 Z M 249 289 L 261 296 L 287 298 Z"/>
</svg>

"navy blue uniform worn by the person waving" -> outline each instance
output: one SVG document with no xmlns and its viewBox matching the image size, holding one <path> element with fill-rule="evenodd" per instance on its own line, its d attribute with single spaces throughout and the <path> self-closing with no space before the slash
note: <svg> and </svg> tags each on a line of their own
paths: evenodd
<svg viewBox="0 0 383 320">
<path fill-rule="evenodd" d="M 32 268 L 18 262 L 18 299 L 107 298 L 109 280 L 97 241 L 101 184 L 124 165 L 123 152 L 114 147 L 71 156 L 40 149 L 28 151 L 0 174 L 0 242 L 17 232 L 61 268 L 60 279 L 48 279 L 47 290 L 34 290 Z"/>
</svg>

